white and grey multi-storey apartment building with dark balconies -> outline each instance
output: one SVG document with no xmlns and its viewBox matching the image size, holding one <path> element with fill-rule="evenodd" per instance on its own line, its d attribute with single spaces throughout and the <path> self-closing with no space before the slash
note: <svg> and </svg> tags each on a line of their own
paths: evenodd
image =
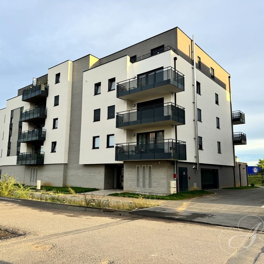
<svg viewBox="0 0 264 264">
<path fill-rule="evenodd" d="M 159 195 L 173 180 L 178 191 L 238 186 L 243 123 L 229 73 L 177 27 L 18 90 L 0 110 L 0 174 Z"/>
</svg>

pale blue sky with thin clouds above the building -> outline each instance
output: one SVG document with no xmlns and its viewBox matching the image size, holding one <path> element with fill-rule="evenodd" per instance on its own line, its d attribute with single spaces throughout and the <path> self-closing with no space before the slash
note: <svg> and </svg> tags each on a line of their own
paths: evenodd
<svg viewBox="0 0 264 264">
<path fill-rule="evenodd" d="M 0 1 L 0 109 L 33 77 L 89 53 L 105 57 L 178 26 L 231 75 L 247 134 L 240 162 L 264 158 L 264 1 Z"/>
</svg>

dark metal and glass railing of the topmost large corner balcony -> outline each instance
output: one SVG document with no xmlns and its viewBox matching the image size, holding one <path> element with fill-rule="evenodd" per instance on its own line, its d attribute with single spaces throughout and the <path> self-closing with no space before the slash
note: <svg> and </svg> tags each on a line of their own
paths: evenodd
<svg viewBox="0 0 264 264">
<path fill-rule="evenodd" d="M 184 75 L 172 67 L 152 71 L 144 76 L 138 76 L 117 83 L 117 97 L 141 92 L 154 87 L 173 84 L 184 91 Z"/>
</svg>

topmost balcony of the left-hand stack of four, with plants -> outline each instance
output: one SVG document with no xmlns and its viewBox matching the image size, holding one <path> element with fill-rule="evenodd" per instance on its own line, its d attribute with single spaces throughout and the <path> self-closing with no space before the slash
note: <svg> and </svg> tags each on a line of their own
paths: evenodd
<svg viewBox="0 0 264 264">
<path fill-rule="evenodd" d="M 44 97 L 49 94 L 49 85 L 44 83 L 39 83 L 37 85 L 31 86 L 22 92 L 22 101 L 39 103 Z"/>
</svg>

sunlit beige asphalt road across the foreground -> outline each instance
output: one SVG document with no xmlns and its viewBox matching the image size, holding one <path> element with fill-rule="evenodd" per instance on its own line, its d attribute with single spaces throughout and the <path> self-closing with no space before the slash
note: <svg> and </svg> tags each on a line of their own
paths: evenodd
<svg viewBox="0 0 264 264">
<path fill-rule="evenodd" d="M 0 197 L 1 264 L 263 263 L 264 234 Z"/>
</svg>

